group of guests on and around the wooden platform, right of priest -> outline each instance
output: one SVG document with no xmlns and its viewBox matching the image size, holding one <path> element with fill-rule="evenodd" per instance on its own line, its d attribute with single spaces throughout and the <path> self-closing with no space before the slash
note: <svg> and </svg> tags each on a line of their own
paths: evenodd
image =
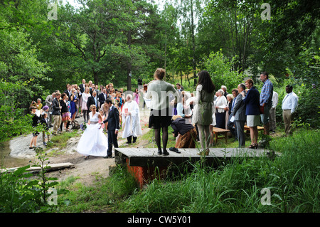
<svg viewBox="0 0 320 227">
<path fill-rule="evenodd" d="M 197 138 L 201 143 L 199 154 L 208 155 L 209 146 L 213 143 L 213 127 L 230 130 L 239 147 L 245 147 L 245 125 L 250 129 L 251 144 L 248 148 L 257 148 L 259 125 L 263 126 L 263 133 L 274 133 L 276 128 L 275 109 L 278 102 L 278 94 L 274 92 L 273 85 L 269 80 L 267 72 L 261 73 L 260 80 L 263 83 L 259 92 L 254 86 L 252 79 L 245 83 L 240 83 L 238 88 L 232 90 L 232 94 L 227 93 L 227 88 L 222 85 L 215 92 L 215 85 L 209 73 L 203 70 L 199 73 L 196 95 L 184 91 L 180 84 L 176 84 L 176 90 L 172 90 L 173 85 L 164 83 L 163 69 L 156 70 L 154 78 L 156 83 L 151 83 L 150 89 L 160 96 L 161 91 L 171 91 L 176 96 L 177 103 L 174 106 L 174 116 L 171 119 L 171 127 L 174 129 L 176 146 L 183 148 L 195 147 L 192 140 Z M 161 90 L 159 90 L 161 88 Z M 286 88 L 287 95 L 282 101 L 283 119 L 285 133 L 291 133 L 292 114 L 297 110 L 298 97 L 292 92 L 292 85 Z M 148 88 L 149 90 L 149 88 Z M 146 97 L 151 97 L 147 95 Z M 149 127 L 155 129 L 156 144 L 159 148 L 158 154 L 167 154 L 167 127 L 169 117 L 166 112 L 170 110 L 161 109 L 170 105 L 160 105 L 159 100 L 151 107 Z M 161 116 L 163 112 L 164 115 Z M 154 117 L 156 114 L 157 117 Z M 158 117 L 160 116 L 160 117 Z M 160 144 L 160 129 L 162 129 L 163 147 Z"/>
</svg>

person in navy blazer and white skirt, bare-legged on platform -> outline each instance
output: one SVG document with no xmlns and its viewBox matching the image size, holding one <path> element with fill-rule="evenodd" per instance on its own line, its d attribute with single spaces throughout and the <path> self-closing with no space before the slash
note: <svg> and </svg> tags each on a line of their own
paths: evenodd
<svg viewBox="0 0 320 227">
<path fill-rule="evenodd" d="M 245 102 L 246 105 L 245 115 L 247 115 L 247 126 L 250 128 L 251 145 L 249 148 L 257 149 L 257 125 L 260 124 L 260 93 L 253 86 L 253 80 L 251 79 L 245 80 L 245 86 L 249 89 L 246 96 L 242 93 L 242 96 L 245 96 L 243 102 Z"/>
</svg>

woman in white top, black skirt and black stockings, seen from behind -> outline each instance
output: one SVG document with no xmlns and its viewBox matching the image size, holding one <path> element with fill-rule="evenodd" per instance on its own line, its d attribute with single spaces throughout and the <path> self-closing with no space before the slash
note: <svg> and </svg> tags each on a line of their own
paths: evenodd
<svg viewBox="0 0 320 227">
<path fill-rule="evenodd" d="M 157 68 L 154 72 L 154 81 L 149 83 L 147 92 L 144 93 L 144 98 L 150 100 L 150 117 L 149 128 L 154 129 L 154 138 L 158 147 L 158 154 L 169 155 L 166 151 L 168 142 L 168 127 L 171 124 L 172 108 L 169 107 L 171 101 L 169 97 L 178 97 L 178 92 L 170 83 L 164 81 L 166 70 Z M 174 95 L 174 96 L 173 96 Z M 160 130 L 162 129 L 162 144 L 161 150 Z"/>
</svg>

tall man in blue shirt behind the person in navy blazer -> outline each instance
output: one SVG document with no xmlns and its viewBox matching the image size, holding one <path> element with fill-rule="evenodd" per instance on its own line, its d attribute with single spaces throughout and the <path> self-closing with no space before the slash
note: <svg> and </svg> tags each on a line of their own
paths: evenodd
<svg viewBox="0 0 320 227">
<path fill-rule="evenodd" d="M 264 134 L 269 134 L 269 113 L 272 107 L 273 85 L 269 80 L 269 74 L 267 72 L 261 73 L 260 80 L 263 82 L 263 87 L 260 93 L 260 106 L 263 108 L 261 122 L 263 124 Z"/>
</svg>

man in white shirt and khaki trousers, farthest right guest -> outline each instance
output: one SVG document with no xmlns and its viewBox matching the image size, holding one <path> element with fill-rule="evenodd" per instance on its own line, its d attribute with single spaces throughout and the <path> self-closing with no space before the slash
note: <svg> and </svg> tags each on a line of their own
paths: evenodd
<svg viewBox="0 0 320 227">
<path fill-rule="evenodd" d="M 284 121 L 284 131 L 286 135 L 291 133 L 292 114 L 297 110 L 299 97 L 292 92 L 292 85 L 287 85 L 287 95 L 282 100 L 282 117 Z"/>
</svg>

